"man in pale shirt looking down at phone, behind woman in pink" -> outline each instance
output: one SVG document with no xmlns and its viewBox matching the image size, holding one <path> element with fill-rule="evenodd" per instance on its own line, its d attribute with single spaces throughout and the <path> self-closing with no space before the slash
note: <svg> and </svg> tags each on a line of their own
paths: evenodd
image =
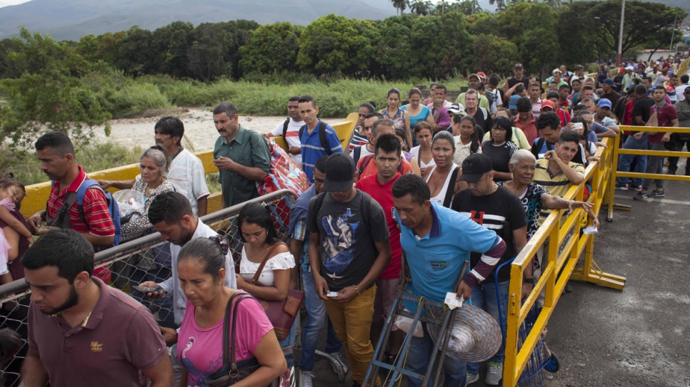
<svg viewBox="0 0 690 387">
<path fill-rule="evenodd" d="M 191 239 L 216 237 L 218 234 L 211 227 L 204 225 L 204 222 L 201 222 L 198 217 L 194 216 L 189 200 L 186 200 L 186 197 L 179 192 L 166 192 L 156 196 L 149 207 L 149 221 L 151 221 L 154 229 L 161 233 L 161 240 L 171 244 L 170 260 L 172 274 L 169 279 L 159 284 L 153 281 L 146 281 L 139 285 L 142 287 L 160 288 L 159 291 L 147 294 L 151 298 L 172 297 L 174 322 L 176 326 L 179 326 L 184 318 L 187 299 L 180 286 L 179 277 L 177 277 L 177 256 L 182 247 Z M 225 287 L 236 289 L 237 280 L 235 279 L 235 267 L 231 254 L 231 252 L 228 252 L 225 256 L 225 278 L 223 284 Z M 172 345 L 171 354 L 177 354 L 177 331 L 161 326 L 160 332 L 163 334 L 166 344 Z M 184 367 L 174 355 L 171 357 L 171 361 L 175 371 L 174 386 L 177 386 Z"/>
</svg>

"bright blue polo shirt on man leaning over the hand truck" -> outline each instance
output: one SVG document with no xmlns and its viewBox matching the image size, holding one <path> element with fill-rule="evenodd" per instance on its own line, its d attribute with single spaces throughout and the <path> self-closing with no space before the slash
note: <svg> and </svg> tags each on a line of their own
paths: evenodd
<svg viewBox="0 0 690 387">
<path fill-rule="evenodd" d="M 402 224 L 397 212 L 394 216 L 412 277 L 408 290 L 430 301 L 443 302 L 447 292 L 455 291 L 462 264 L 469 261 L 470 252 L 488 252 L 501 240 L 496 232 L 436 202 L 431 202 L 431 231 L 419 239 Z M 404 301 L 404 306 L 416 312 L 414 302 Z"/>
</svg>

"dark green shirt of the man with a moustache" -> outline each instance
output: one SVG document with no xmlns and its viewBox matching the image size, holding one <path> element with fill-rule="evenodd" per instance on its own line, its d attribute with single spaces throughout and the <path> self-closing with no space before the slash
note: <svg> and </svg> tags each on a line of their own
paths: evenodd
<svg viewBox="0 0 690 387">
<path fill-rule="evenodd" d="M 269 172 L 271 155 L 269 145 L 259 133 L 254 130 L 239 127 L 235 138 L 229 143 L 224 137 L 219 137 L 214 145 L 214 158 L 229 158 L 245 167 L 257 167 Z M 256 182 L 236 172 L 221 170 L 218 181 L 223 190 L 223 202 L 230 207 L 259 196 Z"/>
</svg>

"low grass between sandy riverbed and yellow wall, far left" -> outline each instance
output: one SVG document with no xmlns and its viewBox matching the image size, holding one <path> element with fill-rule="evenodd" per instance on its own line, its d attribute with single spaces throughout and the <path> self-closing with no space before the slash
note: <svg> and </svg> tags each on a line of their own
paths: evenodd
<svg viewBox="0 0 690 387">
<path fill-rule="evenodd" d="M 139 146 L 128 149 L 114 141 L 92 143 L 76 150 L 76 161 L 86 173 L 89 173 L 134 164 L 139 162 L 143 152 L 144 148 Z M 2 165 L 0 174 L 12 172 L 14 178 L 24 185 L 49 181 L 39 164 L 33 151 L 0 149 L 0 165 Z"/>
</svg>

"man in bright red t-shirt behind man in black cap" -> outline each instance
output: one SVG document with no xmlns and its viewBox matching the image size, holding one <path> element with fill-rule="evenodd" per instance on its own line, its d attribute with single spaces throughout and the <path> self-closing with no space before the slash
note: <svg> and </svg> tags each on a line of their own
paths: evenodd
<svg viewBox="0 0 690 387">
<path fill-rule="evenodd" d="M 376 279 L 374 316 L 371 318 L 372 341 L 379 339 L 384 320 L 391 311 L 393 301 L 398 296 L 398 285 L 400 284 L 402 247 L 400 247 L 400 229 L 398 228 L 398 223 L 393 218 L 392 211 L 393 183 L 401 177 L 400 172 L 398 172 L 398 166 L 403 161 L 400 151 L 400 141 L 395 135 L 380 135 L 376 139 L 376 148 L 374 149 L 374 163 L 378 172 L 361 178 L 355 185 L 361 192 L 371 195 L 383 207 L 386 222 L 388 222 L 388 230 L 391 233 L 391 261 L 384 269 L 384 272 L 381 273 L 379 279 Z M 386 361 L 397 356 L 401 342 L 402 336 L 400 331 L 394 331 L 389 341 L 389 349 L 387 351 L 384 349 L 387 354 Z"/>
</svg>

